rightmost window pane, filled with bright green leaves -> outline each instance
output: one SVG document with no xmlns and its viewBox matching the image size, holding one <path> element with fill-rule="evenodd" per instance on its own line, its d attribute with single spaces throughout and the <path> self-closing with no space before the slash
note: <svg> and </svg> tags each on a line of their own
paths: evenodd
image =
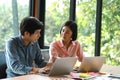
<svg viewBox="0 0 120 80">
<path fill-rule="evenodd" d="M 103 0 L 101 55 L 106 62 L 120 65 L 120 1 Z"/>
</svg>

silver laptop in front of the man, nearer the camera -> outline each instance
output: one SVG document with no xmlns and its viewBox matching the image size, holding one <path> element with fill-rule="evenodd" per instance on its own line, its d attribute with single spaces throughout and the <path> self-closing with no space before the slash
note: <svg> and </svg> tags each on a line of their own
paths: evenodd
<svg viewBox="0 0 120 80">
<path fill-rule="evenodd" d="M 50 72 L 42 75 L 43 76 L 67 75 L 73 71 L 73 67 L 76 61 L 77 61 L 77 57 L 57 58 L 53 63 Z"/>
</svg>

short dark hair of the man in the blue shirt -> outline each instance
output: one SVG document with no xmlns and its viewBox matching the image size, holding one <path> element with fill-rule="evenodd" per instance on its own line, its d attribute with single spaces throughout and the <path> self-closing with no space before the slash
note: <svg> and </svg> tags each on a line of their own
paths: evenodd
<svg viewBox="0 0 120 80">
<path fill-rule="evenodd" d="M 35 32 L 37 29 L 42 29 L 42 22 L 40 22 L 37 18 L 29 16 L 25 17 L 20 23 L 20 33 L 24 35 L 25 31 L 28 31 L 31 34 Z"/>
</svg>

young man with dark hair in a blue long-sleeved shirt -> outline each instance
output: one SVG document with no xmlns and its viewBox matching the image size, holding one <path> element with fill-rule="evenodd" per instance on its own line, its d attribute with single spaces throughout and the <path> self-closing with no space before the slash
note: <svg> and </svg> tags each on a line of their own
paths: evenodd
<svg viewBox="0 0 120 80">
<path fill-rule="evenodd" d="M 44 68 L 35 68 L 33 65 L 34 63 L 38 67 L 46 65 L 37 43 L 42 26 L 38 19 L 26 17 L 20 23 L 21 34 L 7 41 L 5 47 L 7 77 L 44 72 Z"/>
</svg>

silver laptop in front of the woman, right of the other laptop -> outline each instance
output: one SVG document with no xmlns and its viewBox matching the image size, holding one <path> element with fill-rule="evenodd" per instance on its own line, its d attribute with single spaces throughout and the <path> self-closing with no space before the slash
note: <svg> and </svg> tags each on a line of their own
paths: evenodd
<svg viewBox="0 0 120 80">
<path fill-rule="evenodd" d="M 78 72 L 99 72 L 105 62 L 106 57 L 84 57 Z"/>
</svg>

